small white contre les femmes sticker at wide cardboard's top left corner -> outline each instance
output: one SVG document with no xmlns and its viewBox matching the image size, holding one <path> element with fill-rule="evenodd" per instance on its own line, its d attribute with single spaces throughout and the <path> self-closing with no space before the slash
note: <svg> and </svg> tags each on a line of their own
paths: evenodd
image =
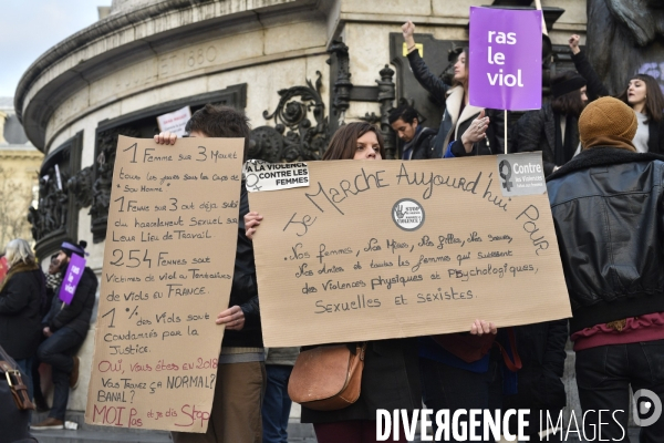
<svg viewBox="0 0 664 443">
<path fill-rule="evenodd" d="M 309 186 L 307 163 L 267 163 L 250 159 L 242 171 L 247 190 L 277 190 Z"/>
</svg>

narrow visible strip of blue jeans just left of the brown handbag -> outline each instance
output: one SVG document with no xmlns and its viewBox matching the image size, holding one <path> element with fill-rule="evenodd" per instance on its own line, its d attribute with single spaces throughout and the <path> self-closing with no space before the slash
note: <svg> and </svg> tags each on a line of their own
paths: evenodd
<svg viewBox="0 0 664 443">
<path fill-rule="evenodd" d="M 288 396 L 288 379 L 293 367 L 266 364 L 268 384 L 262 404 L 263 443 L 288 442 L 288 418 L 292 401 Z"/>
</svg>

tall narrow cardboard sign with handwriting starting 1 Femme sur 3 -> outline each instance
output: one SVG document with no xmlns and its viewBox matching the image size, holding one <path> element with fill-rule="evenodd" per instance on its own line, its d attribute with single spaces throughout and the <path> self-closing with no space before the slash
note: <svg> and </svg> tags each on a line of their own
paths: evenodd
<svg viewBox="0 0 664 443">
<path fill-rule="evenodd" d="M 243 143 L 118 138 L 86 423 L 207 430 Z"/>
</svg>

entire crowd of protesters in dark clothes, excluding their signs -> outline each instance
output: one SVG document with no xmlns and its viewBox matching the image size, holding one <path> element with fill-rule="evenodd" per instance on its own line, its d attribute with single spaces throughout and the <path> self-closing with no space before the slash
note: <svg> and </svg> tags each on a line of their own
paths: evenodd
<svg viewBox="0 0 664 443">
<path fill-rule="evenodd" d="M 458 54 L 448 85 L 419 55 L 415 25 L 407 22 L 402 31 L 415 78 L 445 103 L 437 131 L 423 126 L 413 106 L 392 111 L 390 124 L 404 142 L 402 159 L 502 154 L 502 111 L 468 103 L 468 49 Z M 577 72 L 551 79 L 549 100 L 509 128 L 509 151 L 542 153 L 573 317 L 500 329 L 490 319 L 477 319 L 469 321 L 468 332 L 370 341 L 353 404 L 331 411 L 302 406 L 302 422 L 313 423 L 319 442 L 376 442 L 378 409 L 414 411 L 423 404 L 450 415 L 529 409 L 530 440 L 560 441 L 561 432 L 547 432 L 552 431 L 548 423 L 539 422 L 539 411 L 557 418 L 567 404 L 561 378 L 570 336 L 581 408 L 589 412 L 583 426 L 596 429 L 602 421 L 596 411 L 614 411 L 600 439 L 629 441 L 630 387 L 664 400 L 664 96 L 657 82 L 643 74 L 618 97 L 609 96 L 579 50 L 579 37 L 569 44 Z M 235 109 L 206 105 L 186 131 L 190 137 L 243 137 L 247 155 L 249 121 Z M 155 143 L 177 145 L 177 137 L 162 133 Z M 383 158 L 383 135 L 369 123 L 342 125 L 323 156 Z M 252 248 L 263 215 L 250 210 L 245 186 L 240 216 L 230 302 L 216 319 L 226 332 L 207 433 L 174 432 L 175 442 L 287 441 L 287 385 L 298 349 L 263 348 Z M 53 368 L 53 408 L 33 429 L 62 426 L 66 395 L 77 378 L 79 361 L 72 356 L 89 328 L 96 278 L 85 268 L 71 303 L 62 302 L 59 288 L 70 257 L 83 256 L 84 248 L 84 241 L 64 243 L 44 277 L 28 243 L 18 239 L 7 247 L 0 344 L 27 374 L 31 396 L 39 378 L 29 374 L 39 362 Z M 357 349 L 346 344 L 352 352 Z M 37 389 L 34 398 L 43 402 L 40 393 Z M 481 441 L 492 443 L 483 431 Z M 406 441 L 403 432 L 400 439 Z M 641 439 L 664 441 L 664 419 L 643 427 Z"/>
</svg>

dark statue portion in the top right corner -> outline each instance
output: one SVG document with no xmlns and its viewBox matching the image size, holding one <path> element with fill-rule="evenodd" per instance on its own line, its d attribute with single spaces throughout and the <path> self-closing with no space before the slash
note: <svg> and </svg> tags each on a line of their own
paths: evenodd
<svg viewBox="0 0 664 443">
<path fill-rule="evenodd" d="M 664 90 L 664 2 L 588 0 L 588 56 L 612 94 L 634 74 L 655 78 Z"/>
</svg>

